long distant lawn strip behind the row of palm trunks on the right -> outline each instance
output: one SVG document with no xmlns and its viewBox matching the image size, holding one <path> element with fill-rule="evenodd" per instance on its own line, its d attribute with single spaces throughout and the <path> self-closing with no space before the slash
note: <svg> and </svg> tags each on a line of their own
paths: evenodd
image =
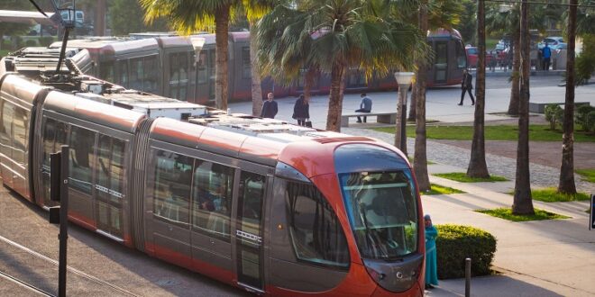
<svg viewBox="0 0 595 297">
<path fill-rule="evenodd" d="M 381 132 L 395 133 L 393 127 L 372 128 Z M 427 139 L 471 140 L 473 127 L 471 126 L 427 126 Z M 416 127 L 407 127 L 407 137 L 415 137 Z M 518 126 L 499 125 L 485 127 L 486 140 L 514 140 L 518 139 Z M 530 125 L 529 139 L 532 141 L 562 141 L 562 130 L 549 130 L 549 125 Z M 595 136 L 583 131 L 574 131 L 574 141 L 595 142 Z"/>
</svg>

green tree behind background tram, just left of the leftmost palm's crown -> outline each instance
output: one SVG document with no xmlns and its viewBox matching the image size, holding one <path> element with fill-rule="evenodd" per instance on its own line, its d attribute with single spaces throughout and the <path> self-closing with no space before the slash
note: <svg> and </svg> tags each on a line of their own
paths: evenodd
<svg viewBox="0 0 595 297">
<path fill-rule="evenodd" d="M 113 35 L 127 35 L 143 31 L 169 31 L 164 18 L 155 19 L 149 25 L 142 22 L 144 13 L 137 0 L 111 0 L 107 2 L 109 24 Z"/>
</svg>

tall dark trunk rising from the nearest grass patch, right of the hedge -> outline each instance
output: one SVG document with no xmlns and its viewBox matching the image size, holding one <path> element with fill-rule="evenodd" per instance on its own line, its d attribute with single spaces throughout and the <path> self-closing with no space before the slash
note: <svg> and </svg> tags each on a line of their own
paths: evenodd
<svg viewBox="0 0 595 297">
<path fill-rule="evenodd" d="M 521 81 L 518 104 L 518 146 L 517 176 L 515 179 L 515 197 L 512 203 L 514 214 L 534 214 L 531 198 L 531 179 L 529 177 L 529 73 L 531 57 L 529 44 L 529 22 L 527 0 L 521 3 Z"/>
</svg>

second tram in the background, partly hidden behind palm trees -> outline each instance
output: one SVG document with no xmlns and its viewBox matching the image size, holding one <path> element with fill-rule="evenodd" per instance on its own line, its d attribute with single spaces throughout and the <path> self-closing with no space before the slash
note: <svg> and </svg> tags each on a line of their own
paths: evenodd
<svg viewBox="0 0 595 297">
<path fill-rule="evenodd" d="M 70 40 L 69 47 L 88 49 L 93 64 L 86 73 L 106 81 L 160 94 L 190 103 L 208 104 L 215 99 L 215 34 L 188 38 L 169 33 L 131 34 L 135 40 L 99 38 Z M 252 96 L 250 32 L 229 33 L 229 98 L 250 100 Z M 428 70 L 427 85 L 459 85 L 467 58 L 458 31 L 438 30 L 428 34 L 427 41 L 435 51 Z M 59 48 L 61 42 L 51 47 Z M 392 75 L 366 82 L 358 67 L 350 67 L 345 76 L 346 92 L 371 92 L 396 89 Z M 275 85 L 270 77 L 262 80 L 262 94 L 277 97 L 298 95 L 303 78 L 295 85 Z M 327 94 L 330 76 L 319 74 L 312 86 L 313 94 Z"/>
</svg>

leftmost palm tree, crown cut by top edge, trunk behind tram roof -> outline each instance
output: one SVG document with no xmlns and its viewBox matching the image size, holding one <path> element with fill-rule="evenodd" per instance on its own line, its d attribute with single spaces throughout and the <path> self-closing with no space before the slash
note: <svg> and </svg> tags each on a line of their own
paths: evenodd
<svg viewBox="0 0 595 297">
<path fill-rule="evenodd" d="M 195 31 L 213 31 L 215 26 L 215 106 L 227 109 L 228 97 L 228 31 L 233 18 L 233 7 L 243 5 L 249 19 L 256 18 L 269 1 L 247 0 L 139 0 L 145 11 L 145 22 L 159 17 L 168 19 L 170 26 L 181 34 Z M 253 13 L 251 13 L 253 12 Z"/>
</svg>

